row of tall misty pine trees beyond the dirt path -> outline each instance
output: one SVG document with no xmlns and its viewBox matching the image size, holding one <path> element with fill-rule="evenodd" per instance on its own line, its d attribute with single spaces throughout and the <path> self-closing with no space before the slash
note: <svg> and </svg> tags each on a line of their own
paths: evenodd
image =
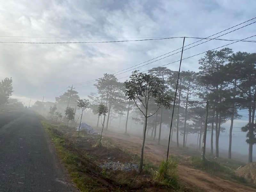
<svg viewBox="0 0 256 192">
<path fill-rule="evenodd" d="M 210 107 L 207 130 L 211 132 L 211 154 L 213 154 L 213 136 L 215 132 L 215 156 L 219 157 L 220 132 L 224 130 L 221 124 L 230 120 L 228 158 L 231 158 L 234 120 L 241 118 L 241 115 L 239 115 L 240 109 L 247 109 L 249 121 L 248 124 L 242 128 L 242 131 L 247 132 L 246 142 L 249 144 L 248 161 L 252 162 L 252 146 L 256 143 L 256 126 L 254 120 L 256 104 L 255 56 L 255 53 L 234 53 L 229 48 L 224 48 L 219 51 L 208 51 L 203 58 L 198 60 L 198 72 L 180 72 L 176 97 L 177 106 L 175 106 L 173 119 L 175 123 L 173 129 L 177 134 L 177 146 L 179 146 L 179 135 L 181 134 L 183 135 L 181 142 L 182 147 L 185 147 L 186 135 L 190 132 L 198 133 L 198 148 L 201 148 L 201 140 L 204 132 L 205 103 L 209 100 Z M 168 95 L 170 101 L 173 103 L 172 99 L 174 99 L 178 72 L 165 67 L 157 67 L 148 70 L 148 75 L 150 77 L 147 78 L 151 80 L 157 77 L 159 80 L 159 82 L 157 82 L 158 89 L 162 89 L 162 94 Z M 161 127 L 163 124 L 170 124 L 171 110 L 168 105 L 167 108 L 158 108 L 156 98 L 149 99 L 144 103 L 147 98 L 147 89 L 142 88 L 143 80 L 145 80 L 143 78 L 146 78 L 146 76 L 135 71 L 130 76 L 130 81 L 121 83 L 118 82 L 114 75 L 104 74 L 104 76 L 97 79 L 97 83 L 94 84 L 98 90 L 98 94 L 91 93 L 91 95 L 89 95 L 92 101 L 91 108 L 96 114 L 97 109 L 95 106 L 98 104 L 108 106 L 105 124 L 106 130 L 109 127 L 113 114 L 117 114 L 119 117 L 126 114 L 125 132 L 127 132 L 129 112 L 131 110 L 135 111 L 138 113 L 138 118 L 135 120 L 144 124 L 143 132 L 146 131 L 145 127 L 148 126 L 152 131 L 151 137 L 153 139 L 158 137 L 157 143 L 160 144 Z M 135 86 L 136 83 L 139 87 L 132 87 Z M 140 92 L 131 93 L 131 90 Z M 154 95 L 154 93 L 152 93 L 152 95 Z M 137 97 L 136 99 L 134 99 L 135 96 Z M 170 107 L 172 107 L 172 105 L 170 105 Z M 149 115 L 146 115 L 146 113 Z M 143 119 L 143 116 L 146 117 L 146 119 Z M 188 121 L 190 122 L 189 126 Z M 157 127 L 158 136 L 156 136 Z"/>
</svg>

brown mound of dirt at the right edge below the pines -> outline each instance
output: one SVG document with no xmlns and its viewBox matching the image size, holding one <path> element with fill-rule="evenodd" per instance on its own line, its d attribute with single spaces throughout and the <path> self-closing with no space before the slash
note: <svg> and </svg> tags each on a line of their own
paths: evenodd
<svg viewBox="0 0 256 192">
<path fill-rule="evenodd" d="M 248 182 L 256 183 L 256 162 L 249 163 L 236 170 L 236 174 Z"/>
</svg>

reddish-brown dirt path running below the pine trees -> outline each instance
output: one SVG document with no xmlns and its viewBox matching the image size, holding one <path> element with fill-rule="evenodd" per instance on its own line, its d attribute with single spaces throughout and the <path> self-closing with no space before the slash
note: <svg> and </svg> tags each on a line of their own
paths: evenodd
<svg viewBox="0 0 256 192">
<path fill-rule="evenodd" d="M 111 138 L 124 150 L 140 155 L 141 138 L 131 138 L 129 136 L 116 134 L 110 131 L 105 132 L 105 136 Z M 154 145 L 153 142 L 146 141 L 144 158 L 150 163 L 159 165 L 159 163 L 166 157 L 165 150 L 166 146 Z M 172 152 L 173 151 L 171 150 L 171 153 Z M 178 165 L 178 175 L 180 181 L 185 186 L 189 188 L 201 188 L 207 192 L 256 192 L 256 190 L 253 188 L 246 187 L 232 181 L 220 179 L 185 165 Z"/>
</svg>

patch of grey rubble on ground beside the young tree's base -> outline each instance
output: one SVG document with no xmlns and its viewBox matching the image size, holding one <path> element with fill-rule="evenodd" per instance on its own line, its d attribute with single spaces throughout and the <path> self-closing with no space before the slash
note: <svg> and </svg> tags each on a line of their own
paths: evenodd
<svg viewBox="0 0 256 192">
<path fill-rule="evenodd" d="M 133 170 L 138 171 L 139 165 L 135 163 L 120 163 L 118 162 L 106 162 L 105 164 L 100 165 L 101 168 L 105 167 L 105 169 L 109 170 L 121 170 L 121 171 L 126 171 L 130 172 Z"/>
</svg>

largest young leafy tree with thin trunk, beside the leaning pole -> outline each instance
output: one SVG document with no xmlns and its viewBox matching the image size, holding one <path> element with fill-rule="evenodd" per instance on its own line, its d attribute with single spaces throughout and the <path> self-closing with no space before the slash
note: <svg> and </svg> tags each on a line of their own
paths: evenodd
<svg viewBox="0 0 256 192">
<path fill-rule="evenodd" d="M 172 98 L 169 95 L 164 94 L 164 89 L 166 88 L 164 82 L 152 74 L 139 73 L 138 71 L 133 71 L 132 75 L 130 76 L 130 80 L 126 80 L 124 82 L 124 86 L 125 95 L 128 96 L 128 99 L 134 101 L 137 108 L 145 117 L 145 127 L 143 132 L 143 141 L 141 147 L 141 158 L 139 167 L 139 171 L 141 173 L 143 167 L 143 155 L 148 117 L 153 116 L 162 106 L 170 108 Z M 158 106 L 158 108 L 154 113 L 149 114 L 148 101 L 150 98 L 155 100 L 155 103 Z"/>
</svg>

